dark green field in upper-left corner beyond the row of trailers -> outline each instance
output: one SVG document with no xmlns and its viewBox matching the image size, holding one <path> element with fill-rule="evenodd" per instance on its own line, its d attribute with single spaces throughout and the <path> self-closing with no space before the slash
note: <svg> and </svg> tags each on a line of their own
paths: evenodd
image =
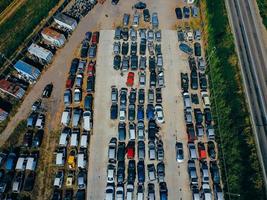
<svg viewBox="0 0 267 200">
<path fill-rule="evenodd" d="M 0 25 L 0 52 L 10 57 L 58 2 L 59 0 L 27 0 Z M 3 60 L 0 60 L 0 66 L 2 64 Z"/>
</svg>

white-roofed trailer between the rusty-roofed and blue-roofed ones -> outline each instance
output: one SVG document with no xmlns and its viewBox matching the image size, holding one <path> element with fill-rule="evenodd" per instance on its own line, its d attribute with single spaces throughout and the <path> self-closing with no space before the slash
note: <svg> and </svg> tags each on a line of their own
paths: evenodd
<svg viewBox="0 0 267 200">
<path fill-rule="evenodd" d="M 53 53 L 43 47 L 40 47 L 37 44 L 31 44 L 31 46 L 28 48 L 28 52 L 47 63 L 50 63 L 53 58 Z"/>
</svg>

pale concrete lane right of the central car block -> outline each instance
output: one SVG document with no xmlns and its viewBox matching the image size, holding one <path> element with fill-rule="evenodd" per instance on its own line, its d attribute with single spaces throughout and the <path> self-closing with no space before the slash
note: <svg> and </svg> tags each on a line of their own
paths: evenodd
<svg viewBox="0 0 267 200">
<path fill-rule="evenodd" d="M 178 54 L 177 32 L 162 32 L 162 54 L 165 66 L 166 87 L 163 89 L 163 108 L 166 123 L 163 127 L 163 142 L 166 152 L 166 180 L 170 199 L 190 199 L 187 173 L 187 134 L 183 116 L 180 72 L 188 71 L 184 55 Z M 185 161 L 176 162 L 175 142 L 183 142 Z"/>
</svg>

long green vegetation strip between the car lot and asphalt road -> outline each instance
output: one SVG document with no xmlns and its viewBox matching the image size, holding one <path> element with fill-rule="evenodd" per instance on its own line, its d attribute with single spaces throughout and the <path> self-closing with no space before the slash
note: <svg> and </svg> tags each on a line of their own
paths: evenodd
<svg viewBox="0 0 267 200">
<path fill-rule="evenodd" d="M 206 11 L 202 12 L 207 24 L 206 53 L 212 55 L 208 75 L 225 198 L 230 192 L 241 195 L 231 196 L 232 200 L 263 200 L 264 181 L 224 1 L 201 2 Z"/>
</svg>

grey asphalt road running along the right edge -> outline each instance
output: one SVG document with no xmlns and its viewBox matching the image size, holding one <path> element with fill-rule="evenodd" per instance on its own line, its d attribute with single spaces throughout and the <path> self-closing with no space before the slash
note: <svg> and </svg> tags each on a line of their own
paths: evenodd
<svg viewBox="0 0 267 200">
<path fill-rule="evenodd" d="M 241 63 L 245 92 L 266 184 L 267 170 L 267 50 L 259 18 L 250 0 L 227 0 L 230 22 Z M 267 188 L 267 187 L 266 187 Z"/>
</svg>

